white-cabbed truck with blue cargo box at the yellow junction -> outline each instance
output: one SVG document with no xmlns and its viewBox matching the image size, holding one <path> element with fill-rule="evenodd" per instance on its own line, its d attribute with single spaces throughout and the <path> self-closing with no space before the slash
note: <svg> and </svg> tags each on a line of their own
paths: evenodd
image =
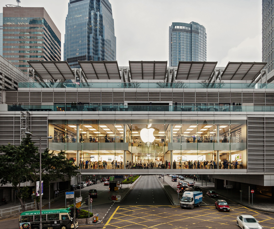
<svg viewBox="0 0 274 229">
<path fill-rule="evenodd" d="M 180 206 L 182 208 L 191 208 L 195 206 L 200 207 L 203 202 L 203 193 L 202 192 L 184 192 L 182 199 L 180 201 Z"/>
</svg>

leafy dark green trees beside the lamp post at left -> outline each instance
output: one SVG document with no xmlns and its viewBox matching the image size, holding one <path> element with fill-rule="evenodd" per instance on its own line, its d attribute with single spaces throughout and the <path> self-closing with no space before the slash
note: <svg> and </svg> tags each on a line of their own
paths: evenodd
<svg viewBox="0 0 274 229">
<path fill-rule="evenodd" d="M 26 198 L 26 189 L 20 187 L 24 182 L 32 182 L 36 186 L 36 181 L 40 180 L 40 155 L 37 146 L 34 146 L 31 137 L 22 139 L 19 146 L 8 144 L 0 146 L 0 183 L 1 185 L 12 184 L 17 191 L 17 197 L 25 211 L 23 199 Z M 66 152 L 50 152 L 45 149 L 41 153 L 42 180 L 48 185 L 51 180 L 61 179 L 62 181 L 71 180 L 79 174 L 75 167 L 67 158 Z M 37 209 L 40 198 L 36 198 Z"/>
</svg>

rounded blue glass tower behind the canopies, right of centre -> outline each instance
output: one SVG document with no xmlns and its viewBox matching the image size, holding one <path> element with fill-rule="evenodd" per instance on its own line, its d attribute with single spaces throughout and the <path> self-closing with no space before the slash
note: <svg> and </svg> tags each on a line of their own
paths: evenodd
<svg viewBox="0 0 274 229">
<path fill-rule="evenodd" d="M 169 26 L 169 66 L 178 66 L 179 61 L 206 61 L 204 26 L 196 22 Z"/>
</svg>

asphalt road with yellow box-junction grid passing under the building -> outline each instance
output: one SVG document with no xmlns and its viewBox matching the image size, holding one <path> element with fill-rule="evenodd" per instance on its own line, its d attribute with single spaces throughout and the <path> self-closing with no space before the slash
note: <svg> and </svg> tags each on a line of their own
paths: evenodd
<svg viewBox="0 0 274 229">
<path fill-rule="evenodd" d="M 170 183 L 169 179 L 171 180 L 165 176 L 165 182 Z M 264 228 L 274 227 L 274 214 L 272 213 L 252 210 L 232 201 L 228 201 L 231 207 L 230 212 L 218 212 L 214 205 L 215 199 L 205 196 L 205 193 L 203 193 L 201 207 L 182 209 L 180 206 L 172 205 L 157 177 L 153 175 L 142 176 L 120 203 L 110 202 L 108 199 L 110 192 L 107 187 L 102 184 L 92 186 L 94 187 L 98 190 L 99 196 L 98 199 L 94 199 L 92 212 L 99 213 L 99 219 L 103 219 L 103 223 L 79 226 L 79 228 L 237 228 L 235 220 L 240 214 L 253 215 Z M 89 188 L 82 189 L 84 197 L 88 195 Z M 56 201 L 52 203 L 52 206 L 58 203 L 62 205 L 61 201 L 65 202 L 64 199 L 60 200 L 60 203 Z M 87 210 L 85 204 L 82 207 Z M 18 228 L 18 217 L 0 222 L 2 228 Z"/>
</svg>

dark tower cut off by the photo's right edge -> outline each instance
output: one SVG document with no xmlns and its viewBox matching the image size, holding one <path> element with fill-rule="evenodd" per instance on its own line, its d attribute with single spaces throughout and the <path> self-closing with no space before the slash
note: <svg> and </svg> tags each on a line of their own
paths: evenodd
<svg viewBox="0 0 274 229">
<path fill-rule="evenodd" d="M 269 83 L 274 80 L 273 11 L 273 0 L 262 0 L 262 62 L 267 62 Z"/>
</svg>

